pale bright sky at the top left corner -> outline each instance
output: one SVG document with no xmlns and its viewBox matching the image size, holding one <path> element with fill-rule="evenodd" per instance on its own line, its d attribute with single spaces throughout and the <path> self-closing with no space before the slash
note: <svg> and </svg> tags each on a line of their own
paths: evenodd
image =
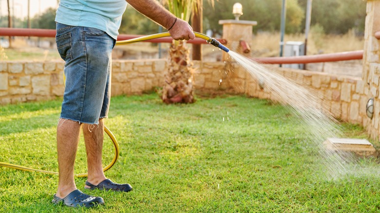
<svg viewBox="0 0 380 213">
<path fill-rule="evenodd" d="M 30 1 L 30 17 L 34 17 L 39 13 L 43 13 L 47 8 L 57 8 L 57 0 L 29 0 Z M 28 0 L 9 0 L 11 7 L 14 9 L 15 16 L 18 18 L 28 17 Z M 0 0 L 0 16 L 8 16 L 7 0 Z"/>
</svg>

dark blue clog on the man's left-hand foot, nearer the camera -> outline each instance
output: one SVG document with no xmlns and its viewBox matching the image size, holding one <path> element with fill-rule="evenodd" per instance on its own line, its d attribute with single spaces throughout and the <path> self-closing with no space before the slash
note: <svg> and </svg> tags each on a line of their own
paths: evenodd
<svg viewBox="0 0 380 213">
<path fill-rule="evenodd" d="M 60 198 L 54 195 L 52 202 L 54 204 L 63 203 L 66 206 L 70 207 L 93 207 L 96 205 L 104 204 L 103 198 L 86 195 L 77 189 L 71 192 L 69 195 L 65 196 L 64 198 Z"/>
</svg>

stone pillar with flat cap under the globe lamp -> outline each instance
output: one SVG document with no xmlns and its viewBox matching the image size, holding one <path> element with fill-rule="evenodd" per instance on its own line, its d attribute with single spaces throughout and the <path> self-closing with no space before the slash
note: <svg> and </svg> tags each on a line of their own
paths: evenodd
<svg viewBox="0 0 380 213">
<path fill-rule="evenodd" d="M 223 25 L 223 38 L 227 40 L 225 45 L 228 49 L 242 53 L 240 41 L 245 41 L 249 46 L 252 43 L 253 26 L 257 25 L 257 21 L 247 20 L 219 20 L 219 24 Z M 223 61 L 228 61 L 228 53 L 223 53 Z"/>
</svg>

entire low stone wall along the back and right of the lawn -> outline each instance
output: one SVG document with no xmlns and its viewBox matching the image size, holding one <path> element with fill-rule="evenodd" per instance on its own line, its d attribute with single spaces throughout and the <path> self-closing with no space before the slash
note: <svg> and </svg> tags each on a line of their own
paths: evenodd
<svg viewBox="0 0 380 213">
<path fill-rule="evenodd" d="M 61 97 L 64 90 L 63 65 L 63 61 L 0 62 L 0 104 Z M 167 66 L 164 59 L 114 60 L 112 94 L 141 94 L 162 87 Z M 380 71 L 372 67 L 374 73 Z M 261 88 L 247 71 L 234 63 L 194 61 L 194 68 L 194 87 L 197 90 L 245 93 L 273 99 L 269 90 Z M 367 124 L 365 105 L 368 98 L 361 78 L 285 68 L 276 70 L 286 78 L 296 80 L 297 84 L 318 91 L 319 98 L 323 100 L 321 104 L 327 106 L 335 117 L 355 124 Z M 371 91 L 379 95 L 375 88 Z"/>
</svg>

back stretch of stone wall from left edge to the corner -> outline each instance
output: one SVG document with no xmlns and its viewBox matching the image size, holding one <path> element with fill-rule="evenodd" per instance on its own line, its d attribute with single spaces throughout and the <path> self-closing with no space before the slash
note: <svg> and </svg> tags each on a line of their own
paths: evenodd
<svg viewBox="0 0 380 213">
<path fill-rule="evenodd" d="M 167 60 L 114 60 L 112 95 L 141 94 L 164 85 Z M 63 96 L 63 61 L 0 62 L 0 105 L 51 100 Z M 194 62 L 196 89 L 229 89 L 220 79 L 227 75 L 224 62 Z"/>
</svg>

